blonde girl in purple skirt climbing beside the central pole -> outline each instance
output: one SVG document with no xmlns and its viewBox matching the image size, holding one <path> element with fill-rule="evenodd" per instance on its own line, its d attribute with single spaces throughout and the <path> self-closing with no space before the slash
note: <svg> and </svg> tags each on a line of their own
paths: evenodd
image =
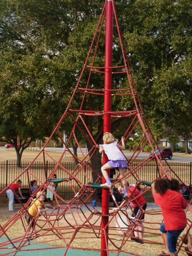
<svg viewBox="0 0 192 256">
<path fill-rule="evenodd" d="M 112 183 L 110 181 L 109 175 L 107 173 L 108 169 L 115 168 L 119 171 L 121 178 L 125 175 L 125 168 L 128 168 L 126 158 L 124 157 L 121 150 L 125 149 L 124 138 L 121 138 L 122 146 L 117 143 L 117 139 L 113 137 L 111 133 L 103 134 L 104 144 L 99 145 L 99 153 L 103 151 L 106 153 L 109 161 L 101 167 L 102 174 L 106 180 L 106 183 L 101 184 L 100 186 L 111 187 Z M 122 183 L 124 187 L 124 198 L 128 198 L 127 194 L 127 181 L 126 178 L 122 178 Z"/>
</svg>

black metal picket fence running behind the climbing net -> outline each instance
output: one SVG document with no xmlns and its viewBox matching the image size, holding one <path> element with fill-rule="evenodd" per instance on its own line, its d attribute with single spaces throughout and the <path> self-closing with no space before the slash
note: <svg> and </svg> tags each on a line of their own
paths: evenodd
<svg viewBox="0 0 192 256">
<path fill-rule="evenodd" d="M 34 162 L 30 167 L 30 172 L 25 171 L 26 168 L 30 162 L 22 162 L 21 167 L 18 167 L 16 162 L 12 161 L 4 161 L 0 163 L 0 189 L 1 191 L 7 187 L 13 180 L 15 180 L 19 175 L 19 179 L 22 181 L 22 187 L 21 188 L 27 188 L 29 187 L 28 181 L 32 180 L 38 180 L 39 185 L 41 185 L 41 182 L 44 182 L 46 180 L 46 177 L 49 176 L 49 174 L 54 170 L 55 163 L 54 162 Z M 136 167 L 138 163 L 132 163 L 133 167 Z M 79 171 L 80 167 L 75 162 L 62 162 L 61 165 L 69 172 L 72 173 L 75 170 L 76 178 L 80 180 L 83 184 L 86 184 L 89 180 L 92 181 L 92 172 L 89 170 L 89 168 L 85 167 L 83 170 L 85 171 L 88 178 L 85 177 L 82 170 Z M 162 162 L 162 165 L 165 166 L 167 169 L 167 165 L 165 162 Z M 192 162 L 190 163 L 180 163 L 180 162 L 173 162 L 169 163 L 172 170 L 174 170 L 174 173 L 172 177 L 174 178 L 175 175 L 177 175 L 185 184 L 191 185 L 191 179 L 192 179 Z M 114 178 L 117 177 L 119 173 L 116 172 L 114 175 Z M 58 167 L 56 169 L 56 175 L 57 178 L 68 178 L 69 174 L 67 174 L 61 167 Z M 156 177 L 158 177 L 157 172 L 157 165 L 154 161 L 151 161 L 150 163 L 144 165 L 137 171 L 137 175 L 140 178 L 141 181 L 153 181 Z M 36 178 L 37 177 L 37 178 Z M 73 187 L 76 186 L 76 181 L 72 180 Z M 130 176 L 128 178 L 128 182 L 130 184 L 133 184 L 136 182 L 135 178 L 133 176 Z M 68 197 L 73 196 L 74 191 L 72 190 L 72 186 L 69 184 L 69 182 L 61 182 L 58 184 L 58 195 L 61 197 Z M 150 194 L 151 192 L 148 192 Z"/>
</svg>

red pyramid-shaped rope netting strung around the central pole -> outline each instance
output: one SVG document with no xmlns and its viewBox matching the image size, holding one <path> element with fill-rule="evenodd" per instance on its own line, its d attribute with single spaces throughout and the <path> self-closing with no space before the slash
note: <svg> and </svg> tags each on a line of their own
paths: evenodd
<svg viewBox="0 0 192 256">
<path fill-rule="evenodd" d="M 159 228 L 163 221 L 163 216 L 160 208 L 147 208 L 144 211 L 141 205 L 138 204 L 138 207 L 140 207 L 140 215 L 132 219 L 131 214 L 133 213 L 133 209 L 131 208 L 131 203 L 133 200 L 137 201 L 138 195 L 136 196 L 133 191 L 131 195 L 132 199 L 122 197 L 117 190 L 118 185 L 121 183 L 120 175 L 116 175 L 115 179 L 112 181 L 113 190 L 112 188 L 100 187 L 102 177 L 100 170 L 98 171 L 98 168 L 95 168 L 96 165 L 93 163 L 93 158 L 95 155 L 99 155 L 99 141 L 97 140 L 97 135 L 103 133 L 104 114 L 110 115 L 113 124 L 120 122 L 121 126 L 126 127 L 124 134 L 121 134 L 125 138 L 125 141 L 130 138 L 131 134 L 133 134 L 136 129 L 140 130 L 143 134 L 141 137 L 138 137 L 138 145 L 131 157 L 127 158 L 125 155 L 128 165 L 125 177 L 130 183 L 136 184 L 135 188 L 138 188 L 139 185 L 142 187 L 143 196 L 151 190 L 151 182 L 160 177 L 167 177 L 169 179 L 175 177 L 186 190 L 189 190 L 185 185 L 186 182 L 182 181 L 179 175 L 172 170 L 164 157 L 162 156 L 165 164 L 162 164 L 161 157 L 155 153 L 152 141 L 155 142 L 157 148 L 158 145 L 150 130 L 138 97 L 113 0 L 114 24 L 116 25 L 116 32 L 119 35 L 119 41 L 116 42 L 116 47 L 118 44 L 118 47 L 121 48 L 122 56 L 120 57 L 119 64 L 116 66 L 106 67 L 104 64 L 100 64 L 101 66 L 98 65 L 102 59 L 101 57 L 97 58 L 97 53 L 100 47 L 100 38 L 103 36 L 106 3 L 107 1 L 104 4 L 79 80 L 61 120 L 45 143 L 43 149 L 37 154 L 28 167 L 11 182 L 11 184 L 13 184 L 17 179 L 22 180 L 24 174 L 27 173 L 28 186 L 30 187 L 30 180 L 37 180 L 40 184 L 40 188 L 28 199 L 26 204 L 23 204 L 18 198 L 21 204 L 20 210 L 6 223 L 0 222 L 0 255 L 17 255 L 18 252 L 25 252 L 27 255 L 27 252 L 31 250 L 41 250 L 41 253 L 43 253 L 45 242 L 49 245 L 48 249 L 56 250 L 62 248 L 62 255 L 70 255 L 69 249 L 100 252 L 102 250 L 100 239 L 102 232 L 101 218 L 103 214 L 101 209 L 102 198 L 99 196 L 98 191 L 103 189 L 110 191 L 114 206 L 116 206 L 114 210 L 109 208 L 109 215 L 107 215 L 109 222 L 103 229 L 106 238 L 106 255 L 112 252 L 115 253 L 115 255 L 119 255 L 120 253 L 146 255 L 146 245 L 162 247 L 163 241 Z M 106 90 L 102 88 L 102 85 L 104 83 L 104 70 L 106 68 L 112 69 L 113 74 L 112 89 L 109 90 L 112 97 L 111 112 L 104 112 L 103 110 L 103 99 Z M 120 77 L 123 77 L 123 79 L 127 81 L 126 85 L 125 83 L 121 83 L 122 79 Z M 77 107 L 77 102 L 80 102 L 79 107 Z M 97 108 L 93 109 L 93 106 L 97 106 Z M 97 131 L 89 127 L 88 121 L 90 119 L 93 120 L 93 123 L 98 124 Z M 66 120 L 73 124 L 73 129 L 67 141 L 64 141 L 61 134 L 63 134 L 63 127 L 65 127 Z M 87 153 L 84 153 L 80 147 L 79 136 L 83 136 L 88 144 Z M 52 156 L 51 152 L 45 150 L 48 142 L 53 137 L 57 137 L 65 145 L 64 151 L 57 159 Z M 69 146 L 72 140 L 75 141 L 80 150 L 80 153 L 77 155 L 70 150 Z M 137 165 L 134 165 L 133 163 L 138 160 L 138 155 L 147 144 L 151 146 L 154 154 L 140 161 Z M 76 163 L 73 171 L 69 171 L 68 168 L 65 168 L 61 164 L 65 153 L 70 154 Z M 43 155 L 44 158 L 45 176 L 47 175 L 46 161 L 52 161 L 53 163 L 52 171 L 46 176 L 46 180 L 41 180 L 32 168 L 32 165 L 35 161 L 38 161 L 40 155 Z M 147 165 L 151 161 L 155 161 L 157 171 L 157 177 L 153 179 L 151 178 L 150 171 L 147 169 Z M 100 164 L 98 165 L 100 169 Z M 58 173 L 58 170 L 62 170 L 62 177 L 53 180 L 52 177 L 54 174 Z M 92 175 L 89 176 L 88 172 Z M 140 180 L 141 173 L 145 174 L 145 181 Z M 82 179 L 80 177 L 84 178 Z M 92 177 L 91 180 L 89 177 Z M 32 218 L 30 224 L 33 221 L 35 228 L 31 228 L 30 235 L 27 235 L 30 224 L 27 224 L 25 214 L 28 213 L 29 206 L 36 200 L 35 196 L 38 191 L 41 190 L 42 193 L 46 190 L 54 192 L 52 185 L 54 182 L 60 185 L 67 183 L 67 187 L 73 191 L 73 197 L 65 199 L 65 195 L 64 197 L 60 197 L 58 194 L 55 194 L 57 206 Z M 8 188 L 9 186 L 1 191 L 0 195 L 3 195 Z M 191 194 L 191 190 L 189 190 L 189 193 Z M 122 201 L 120 205 L 116 200 L 117 197 L 114 197 L 114 194 L 121 197 Z M 52 204 L 48 198 L 46 199 L 49 204 Z M 97 202 L 96 206 L 93 206 L 93 200 Z M 192 212 L 190 204 L 191 201 L 189 203 L 187 202 L 186 209 L 189 228 L 191 228 Z M 143 221 L 144 213 L 145 220 Z M 143 223 L 144 226 L 144 245 L 142 245 L 140 241 L 136 243 L 134 240 L 134 233 L 138 230 L 141 223 Z M 17 225 L 20 226 L 20 229 L 17 233 L 14 233 L 13 228 Z M 37 249 L 32 248 L 31 244 L 35 244 L 35 248 Z M 178 249 L 184 250 L 181 238 L 178 240 Z"/>
</svg>

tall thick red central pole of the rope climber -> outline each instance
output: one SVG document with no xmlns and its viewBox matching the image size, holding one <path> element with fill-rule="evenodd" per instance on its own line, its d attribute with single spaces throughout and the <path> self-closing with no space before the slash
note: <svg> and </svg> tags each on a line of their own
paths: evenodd
<svg viewBox="0 0 192 256">
<path fill-rule="evenodd" d="M 103 133 L 111 132 L 111 90 L 112 89 L 112 54 L 113 54 L 113 6 L 112 1 L 107 1 L 106 6 L 106 38 L 105 38 L 105 79 L 104 79 L 104 122 Z M 107 112 L 107 113 L 106 113 Z M 107 163 L 108 158 L 103 153 L 103 164 Z M 109 174 L 109 170 L 108 170 Z M 103 177 L 103 183 L 106 180 Z M 107 255 L 108 233 L 107 223 L 109 222 L 109 190 L 102 191 L 102 237 L 101 237 L 101 256 Z"/>
</svg>

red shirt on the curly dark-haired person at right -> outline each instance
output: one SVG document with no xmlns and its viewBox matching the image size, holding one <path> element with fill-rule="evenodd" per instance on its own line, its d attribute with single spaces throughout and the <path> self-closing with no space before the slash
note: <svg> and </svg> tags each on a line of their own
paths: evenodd
<svg viewBox="0 0 192 256">
<path fill-rule="evenodd" d="M 186 202 L 181 193 L 173 190 L 169 190 L 163 195 L 155 193 L 154 201 L 155 204 L 161 206 L 166 230 L 185 228 L 187 219 L 183 207 L 186 206 Z"/>
</svg>

